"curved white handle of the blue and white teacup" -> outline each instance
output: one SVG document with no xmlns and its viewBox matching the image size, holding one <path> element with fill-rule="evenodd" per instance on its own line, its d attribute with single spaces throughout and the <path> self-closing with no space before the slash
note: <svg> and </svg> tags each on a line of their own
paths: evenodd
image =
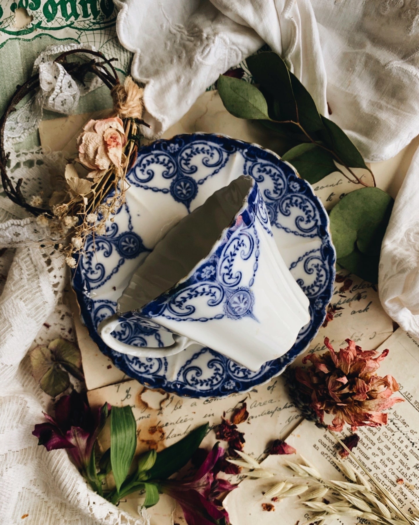
<svg viewBox="0 0 419 525">
<path fill-rule="evenodd" d="M 103 319 L 103 321 L 101 321 L 98 326 L 98 333 L 102 341 L 110 346 L 112 350 L 116 350 L 117 352 L 121 352 L 123 354 L 134 355 L 138 358 L 165 358 L 169 355 L 182 352 L 182 350 L 185 350 L 187 346 L 195 342 L 187 338 L 185 335 L 174 333 L 174 343 L 170 346 L 164 346 L 164 348 L 158 349 L 150 346 L 133 346 L 131 344 L 118 341 L 118 339 L 115 339 L 113 335 L 111 335 L 111 332 L 116 329 L 118 324 L 121 324 L 124 321 L 126 321 L 126 319 L 121 319 L 116 313 L 111 317 Z"/>
</svg>

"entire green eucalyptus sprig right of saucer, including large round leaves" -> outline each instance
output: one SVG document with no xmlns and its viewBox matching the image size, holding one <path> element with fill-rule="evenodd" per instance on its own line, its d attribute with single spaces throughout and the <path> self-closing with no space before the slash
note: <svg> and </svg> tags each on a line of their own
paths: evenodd
<svg viewBox="0 0 419 525">
<path fill-rule="evenodd" d="M 340 172 L 362 186 L 344 195 L 330 214 L 337 264 L 378 282 L 380 248 L 393 207 L 390 195 L 375 187 L 371 169 L 344 131 L 319 113 L 310 93 L 271 51 L 247 58 L 257 85 L 221 75 L 218 93 L 235 117 L 258 120 L 292 144 L 282 159 L 310 184 Z M 368 171 L 372 186 L 354 169 Z"/>
</svg>

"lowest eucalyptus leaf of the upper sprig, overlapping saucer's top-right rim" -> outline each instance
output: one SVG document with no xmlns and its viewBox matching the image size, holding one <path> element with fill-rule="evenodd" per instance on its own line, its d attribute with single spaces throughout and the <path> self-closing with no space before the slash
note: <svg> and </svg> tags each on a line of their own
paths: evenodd
<svg viewBox="0 0 419 525">
<path fill-rule="evenodd" d="M 292 164 L 300 177 L 310 184 L 319 182 L 323 177 L 340 171 L 333 162 L 333 155 L 316 144 L 298 144 L 290 149 L 282 159 Z"/>
</svg>

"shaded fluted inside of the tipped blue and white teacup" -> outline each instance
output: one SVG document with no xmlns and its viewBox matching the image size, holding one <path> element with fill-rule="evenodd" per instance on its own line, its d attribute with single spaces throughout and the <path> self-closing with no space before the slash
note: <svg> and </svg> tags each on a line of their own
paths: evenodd
<svg viewBox="0 0 419 525">
<path fill-rule="evenodd" d="M 139 310 L 185 279 L 210 254 L 255 184 L 240 176 L 186 215 L 155 245 L 118 300 L 118 312 Z"/>
</svg>

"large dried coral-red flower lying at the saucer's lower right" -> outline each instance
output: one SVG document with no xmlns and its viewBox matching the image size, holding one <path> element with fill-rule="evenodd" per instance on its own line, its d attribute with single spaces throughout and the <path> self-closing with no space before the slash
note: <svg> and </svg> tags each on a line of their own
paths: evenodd
<svg viewBox="0 0 419 525">
<path fill-rule="evenodd" d="M 344 423 L 351 425 L 352 431 L 359 426 L 386 425 L 387 414 L 382 411 L 403 401 L 401 397 L 391 397 L 399 390 L 393 376 L 375 374 L 389 351 L 377 355 L 375 350 L 362 351 L 354 341 L 346 341 L 347 348 L 337 353 L 326 338 L 328 352 L 303 359 L 303 363 L 311 361 L 312 365 L 307 370 L 296 369 L 301 393 L 310 396 L 310 407 L 321 422 L 324 412 L 335 415 L 329 425 L 335 432 L 341 432 Z"/>
</svg>

